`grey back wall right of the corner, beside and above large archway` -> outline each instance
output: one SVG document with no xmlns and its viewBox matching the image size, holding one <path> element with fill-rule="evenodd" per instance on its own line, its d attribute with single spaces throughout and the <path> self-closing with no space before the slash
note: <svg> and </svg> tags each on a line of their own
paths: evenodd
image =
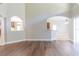
<svg viewBox="0 0 79 59">
<path fill-rule="evenodd" d="M 26 38 L 50 39 L 50 31 L 46 28 L 47 19 L 56 15 L 69 16 L 68 10 L 68 4 L 26 4 Z"/>
</svg>

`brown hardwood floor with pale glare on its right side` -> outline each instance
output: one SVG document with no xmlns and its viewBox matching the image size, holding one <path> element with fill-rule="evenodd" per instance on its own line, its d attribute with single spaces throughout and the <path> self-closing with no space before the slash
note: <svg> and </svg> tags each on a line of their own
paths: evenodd
<svg viewBox="0 0 79 59">
<path fill-rule="evenodd" d="M 79 46 L 70 41 L 26 41 L 0 46 L 0 56 L 77 56 Z"/>
</svg>

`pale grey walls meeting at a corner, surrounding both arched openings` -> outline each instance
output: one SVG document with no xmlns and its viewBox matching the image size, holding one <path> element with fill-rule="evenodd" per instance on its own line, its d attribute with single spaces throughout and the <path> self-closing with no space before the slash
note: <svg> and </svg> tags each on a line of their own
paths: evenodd
<svg viewBox="0 0 79 59">
<path fill-rule="evenodd" d="M 56 15 L 69 16 L 68 4 L 54 3 L 10 3 L 6 9 L 2 7 L 2 13 L 6 19 L 6 42 L 22 39 L 50 39 L 51 33 L 46 28 L 48 18 Z M 4 11 L 6 10 L 6 11 Z M 25 21 L 25 31 L 12 32 L 10 18 L 20 16 Z"/>
</svg>

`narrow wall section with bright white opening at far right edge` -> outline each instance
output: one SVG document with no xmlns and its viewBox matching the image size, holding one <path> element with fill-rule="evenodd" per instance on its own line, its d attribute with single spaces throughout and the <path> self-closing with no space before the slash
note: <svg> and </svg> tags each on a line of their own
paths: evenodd
<svg viewBox="0 0 79 59">
<path fill-rule="evenodd" d="M 75 4 L 73 9 L 72 9 L 72 20 L 73 20 L 73 28 L 74 28 L 74 41 L 76 43 L 79 43 L 79 4 Z"/>
</svg>

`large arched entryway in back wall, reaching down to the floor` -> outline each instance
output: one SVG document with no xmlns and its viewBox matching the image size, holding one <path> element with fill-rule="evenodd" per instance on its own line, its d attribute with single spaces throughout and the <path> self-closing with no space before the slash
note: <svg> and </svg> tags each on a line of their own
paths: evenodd
<svg viewBox="0 0 79 59">
<path fill-rule="evenodd" d="M 69 40 L 68 24 L 69 18 L 65 16 L 54 16 L 47 19 L 47 28 L 51 31 L 52 40 Z"/>
</svg>

